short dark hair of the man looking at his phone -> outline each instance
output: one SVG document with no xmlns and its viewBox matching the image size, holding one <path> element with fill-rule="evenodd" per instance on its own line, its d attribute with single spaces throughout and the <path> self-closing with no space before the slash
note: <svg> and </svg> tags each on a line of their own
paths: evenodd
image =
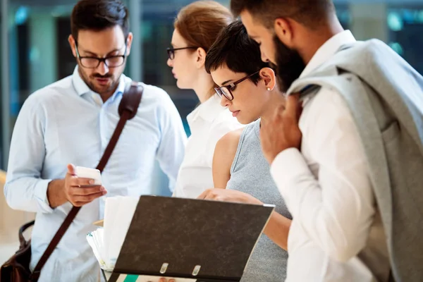
<svg viewBox="0 0 423 282">
<path fill-rule="evenodd" d="M 78 40 L 80 30 L 101 31 L 119 25 L 125 38 L 129 34 L 128 8 L 120 0 L 80 0 L 73 7 L 71 32 Z"/>
</svg>

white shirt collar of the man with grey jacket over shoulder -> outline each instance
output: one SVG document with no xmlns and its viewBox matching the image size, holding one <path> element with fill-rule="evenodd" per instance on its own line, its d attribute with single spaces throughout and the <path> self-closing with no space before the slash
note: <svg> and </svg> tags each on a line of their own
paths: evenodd
<svg viewBox="0 0 423 282">
<path fill-rule="evenodd" d="M 336 54 L 336 51 L 338 51 L 341 46 L 354 42 L 355 38 L 353 33 L 350 32 L 350 30 L 344 30 L 343 32 L 339 32 L 337 35 L 333 35 L 331 39 L 326 41 L 317 50 L 316 54 L 314 54 L 313 58 L 309 61 L 304 71 L 302 71 L 300 78 L 305 77 L 306 75 L 314 71 L 316 68 L 321 66 L 322 63 L 328 61 L 331 56 Z"/>
</svg>

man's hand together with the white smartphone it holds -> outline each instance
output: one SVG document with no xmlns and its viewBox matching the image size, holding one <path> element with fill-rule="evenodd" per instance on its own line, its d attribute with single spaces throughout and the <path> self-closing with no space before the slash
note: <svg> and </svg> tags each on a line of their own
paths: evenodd
<svg viewBox="0 0 423 282">
<path fill-rule="evenodd" d="M 107 193 L 99 170 L 73 164 L 68 164 L 64 192 L 66 199 L 75 207 L 82 207 Z"/>
</svg>

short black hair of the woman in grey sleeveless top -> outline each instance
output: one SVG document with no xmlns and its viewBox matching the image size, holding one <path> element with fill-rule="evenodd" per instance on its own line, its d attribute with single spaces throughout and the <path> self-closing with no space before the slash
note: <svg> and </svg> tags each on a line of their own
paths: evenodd
<svg viewBox="0 0 423 282">
<path fill-rule="evenodd" d="M 207 73 L 222 66 L 227 66 L 234 73 L 247 73 L 247 75 L 269 67 L 268 63 L 262 61 L 259 44 L 248 36 L 240 20 L 235 20 L 225 27 L 207 52 L 205 63 Z M 250 79 L 257 84 L 259 74 L 253 75 Z"/>
</svg>

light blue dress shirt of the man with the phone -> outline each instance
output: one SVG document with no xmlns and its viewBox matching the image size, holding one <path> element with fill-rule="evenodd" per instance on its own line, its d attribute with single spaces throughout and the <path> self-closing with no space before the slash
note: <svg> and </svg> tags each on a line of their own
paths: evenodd
<svg viewBox="0 0 423 282">
<path fill-rule="evenodd" d="M 125 83 L 105 103 L 73 75 L 31 94 L 23 104 L 13 130 L 4 194 L 13 209 L 37 212 L 32 231 L 33 268 L 65 219 L 68 202 L 51 209 L 47 186 L 64 178 L 67 164 L 94 168 L 102 157 L 119 120 L 118 105 Z M 170 179 L 173 190 L 183 161 L 186 134 L 176 106 L 158 87 L 145 90 L 137 115 L 126 123 L 102 173 L 108 194 L 151 194 L 154 162 Z M 42 281 L 98 281 L 99 266 L 85 235 L 102 219 L 104 199 L 80 209 L 61 242 L 42 269 Z"/>
</svg>

